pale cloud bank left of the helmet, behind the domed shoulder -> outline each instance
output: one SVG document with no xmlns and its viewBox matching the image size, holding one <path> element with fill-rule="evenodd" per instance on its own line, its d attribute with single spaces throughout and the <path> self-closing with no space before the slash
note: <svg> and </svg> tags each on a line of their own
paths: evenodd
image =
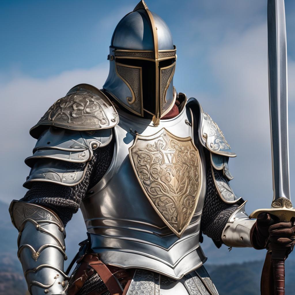
<svg viewBox="0 0 295 295">
<path fill-rule="evenodd" d="M 30 128 L 47 111 L 51 104 L 63 97 L 71 87 L 88 83 L 98 88 L 108 74 L 108 64 L 104 63 L 89 70 L 75 70 L 60 73 L 46 79 L 18 76 L 2 84 L 1 137 L 2 175 L 0 199 L 10 202 L 24 195 L 22 188 L 29 168 L 24 159 L 31 155 L 35 139 L 29 135 Z"/>
</svg>

